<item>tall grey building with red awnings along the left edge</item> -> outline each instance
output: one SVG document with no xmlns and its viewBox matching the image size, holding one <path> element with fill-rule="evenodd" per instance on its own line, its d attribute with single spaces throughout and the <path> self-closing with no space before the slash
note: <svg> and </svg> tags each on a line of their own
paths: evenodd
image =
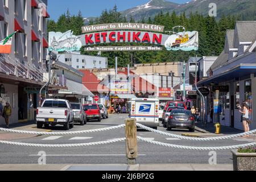
<svg viewBox="0 0 256 182">
<path fill-rule="evenodd" d="M 34 119 L 46 72 L 47 0 L 1 0 L 0 40 L 13 32 L 11 53 L 0 53 L 0 101 L 13 107 L 10 122 Z M 0 124 L 5 123 L 0 119 Z"/>
</svg>

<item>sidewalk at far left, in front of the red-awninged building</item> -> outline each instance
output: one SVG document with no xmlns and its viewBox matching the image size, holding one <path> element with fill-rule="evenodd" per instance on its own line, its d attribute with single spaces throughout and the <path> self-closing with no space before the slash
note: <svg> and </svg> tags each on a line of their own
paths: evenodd
<svg viewBox="0 0 256 182">
<path fill-rule="evenodd" d="M 2 128 L 6 128 L 5 125 L 0 125 Z M 14 123 L 10 124 L 10 129 L 13 130 L 25 130 L 25 131 L 39 131 L 39 132 L 51 132 L 52 130 L 37 129 L 34 122 L 24 122 L 24 123 Z M 9 133 L 0 131 L 0 140 L 15 140 L 15 139 L 25 139 L 37 137 L 38 135 L 31 134 L 19 134 L 19 133 Z"/>
</svg>

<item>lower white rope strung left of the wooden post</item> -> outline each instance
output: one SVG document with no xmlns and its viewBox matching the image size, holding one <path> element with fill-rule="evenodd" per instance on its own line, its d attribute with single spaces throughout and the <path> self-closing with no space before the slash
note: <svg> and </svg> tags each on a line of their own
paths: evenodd
<svg viewBox="0 0 256 182">
<path fill-rule="evenodd" d="M 117 138 L 107 141 L 101 141 L 101 142 L 91 142 L 91 143 L 73 143 L 73 144 L 36 144 L 36 143 L 20 143 L 20 142 L 9 142 L 9 141 L 2 141 L 0 140 L 0 143 L 2 144 L 10 144 L 10 145 L 16 145 L 16 146 L 27 146 L 27 147 L 84 147 L 84 146 L 96 146 L 100 144 L 110 144 L 115 142 L 123 142 L 125 141 L 125 138 Z"/>
</svg>

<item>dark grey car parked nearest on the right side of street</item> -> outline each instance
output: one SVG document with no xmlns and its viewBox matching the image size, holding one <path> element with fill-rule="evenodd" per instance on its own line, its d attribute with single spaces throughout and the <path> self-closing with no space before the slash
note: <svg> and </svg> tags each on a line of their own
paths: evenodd
<svg viewBox="0 0 256 182">
<path fill-rule="evenodd" d="M 188 129 L 191 132 L 195 132 L 195 118 L 191 111 L 172 110 L 167 122 L 167 130 L 170 131 L 171 129 Z"/>
</svg>

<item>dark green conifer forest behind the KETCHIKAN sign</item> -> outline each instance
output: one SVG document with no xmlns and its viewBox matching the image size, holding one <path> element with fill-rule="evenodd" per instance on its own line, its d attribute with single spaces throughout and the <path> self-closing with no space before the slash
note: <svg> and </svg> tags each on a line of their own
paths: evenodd
<svg viewBox="0 0 256 182">
<path fill-rule="evenodd" d="M 57 22 L 49 20 L 48 31 L 67 31 L 73 30 L 75 35 L 81 34 L 83 26 L 81 13 L 70 15 L 69 11 L 60 16 Z M 177 15 L 173 13 L 160 12 L 154 18 L 141 19 L 139 23 L 151 23 L 165 26 L 165 30 L 171 30 L 175 26 L 184 26 L 187 31 L 199 31 L 199 51 L 182 52 L 182 51 L 142 51 L 142 52 L 102 52 L 101 56 L 109 58 L 109 67 L 114 67 L 115 56 L 119 57 L 118 66 L 126 67 L 127 64 L 134 63 L 162 63 L 171 61 L 188 60 L 189 56 L 218 56 L 224 49 L 226 30 L 234 29 L 236 20 L 243 20 L 243 17 L 234 15 L 223 15 L 219 20 L 214 17 L 204 16 L 199 13 L 183 13 Z M 104 10 L 99 18 L 90 20 L 90 24 L 99 23 L 118 23 L 118 22 L 135 22 L 133 18 L 127 19 L 117 11 L 115 6 L 112 10 Z M 127 44 L 115 43 L 112 46 L 123 46 Z M 135 44 L 138 45 L 138 44 Z M 88 55 L 97 55 L 97 52 L 85 52 Z"/>
</svg>

